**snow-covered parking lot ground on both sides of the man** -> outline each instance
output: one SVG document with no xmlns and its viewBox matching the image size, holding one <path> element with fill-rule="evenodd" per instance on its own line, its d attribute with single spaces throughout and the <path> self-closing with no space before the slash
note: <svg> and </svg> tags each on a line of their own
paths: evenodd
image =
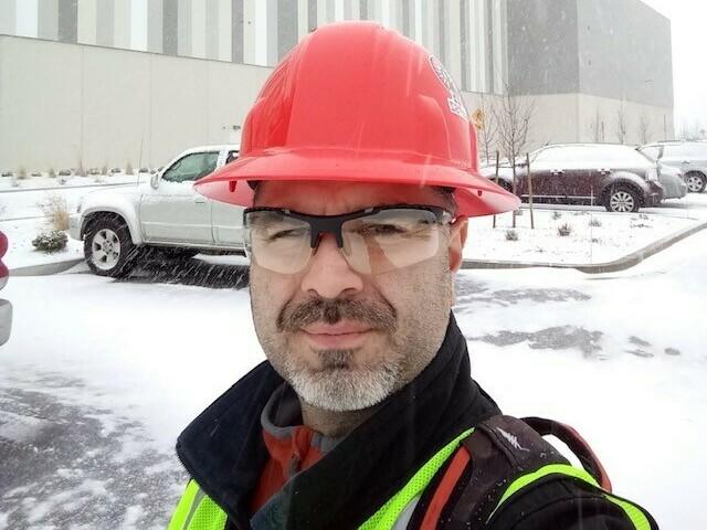
<svg viewBox="0 0 707 530">
<path fill-rule="evenodd" d="M 701 232 L 624 273 L 457 282 L 474 377 L 507 413 L 574 425 L 662 528 L 705 521 L 706 275 Z M 184 480 L 176 436 L 263 359 L 245 280 L 208 264 L 10 279 L 0 529 L 165 528 Z"/>
</svg>

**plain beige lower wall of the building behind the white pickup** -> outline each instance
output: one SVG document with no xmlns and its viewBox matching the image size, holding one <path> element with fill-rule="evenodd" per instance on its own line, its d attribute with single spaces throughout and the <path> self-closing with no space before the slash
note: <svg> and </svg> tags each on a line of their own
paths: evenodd
<svg viewBox="0 0 707 530">
<path fill-rule="evenodd" d="M 158 167 L 233 141 L 270 72 L 0 35 L 0 170 Z"/>
</svg>

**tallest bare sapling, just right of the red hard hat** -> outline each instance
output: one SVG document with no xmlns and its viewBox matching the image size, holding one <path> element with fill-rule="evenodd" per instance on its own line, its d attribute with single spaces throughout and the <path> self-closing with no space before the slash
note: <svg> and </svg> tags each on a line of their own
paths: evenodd
<svg viewBox="0 0 707 530">
<path fill-rule="evenodd" d="M 504 95 L 492 107 L 492 114 L 498 129 L 498 148 L 508 159 L 513 170 L 513 192 L 518 192 L 516 160 L 528 142 L 530 124 L 536 112 L 535 99 L 528 96 L 511 95 L 508 85 Z M 513 227 L 516 227 L 516 212 L 513 212 Z"/>
</svg>

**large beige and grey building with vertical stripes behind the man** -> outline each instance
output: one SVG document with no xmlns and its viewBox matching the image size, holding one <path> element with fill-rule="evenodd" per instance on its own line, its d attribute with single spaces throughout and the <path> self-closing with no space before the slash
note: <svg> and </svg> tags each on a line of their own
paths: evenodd
<svg viewBox="0 0 707 530">
<path fill-rule="evenodd" d="M 673 135 L 669 21 L 639 0 L 0 0 L 0 170 L 238 141 L 272 66 L 340 20 L 424 45 L 469 112 L 531 102 L 527 148 Z"/>
</svg>

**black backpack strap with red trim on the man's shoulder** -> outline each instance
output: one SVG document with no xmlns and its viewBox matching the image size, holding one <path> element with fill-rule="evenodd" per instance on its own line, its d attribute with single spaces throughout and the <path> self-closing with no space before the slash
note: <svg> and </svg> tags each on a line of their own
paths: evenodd
<svg viewBox="0 0 707 530">
<path fill-rule="evenodd" d="M 536 431 L 534 427 L 537 427 Z M 587 471 L 569 462 L 542 435 L 551 434 L 578 454 Z M 605 483 L 606 473 L 587 442 L 571 427 L 544 418 L 493 416 L 462 439 L 434 495 L 424 507 L 421 530 L 485 528 L 490 516 L 517 487 L 517 479 L 532 471 L 560 469 L 592 485 Z M 553 473 L 549 473 L 552 470 Z M 590 476 L 589 474 L 592 474 Z M 464 476 L 464 480 L 460 480 Z M 469 527 L 469 521 L 472 522 Z"/>
</svg>

